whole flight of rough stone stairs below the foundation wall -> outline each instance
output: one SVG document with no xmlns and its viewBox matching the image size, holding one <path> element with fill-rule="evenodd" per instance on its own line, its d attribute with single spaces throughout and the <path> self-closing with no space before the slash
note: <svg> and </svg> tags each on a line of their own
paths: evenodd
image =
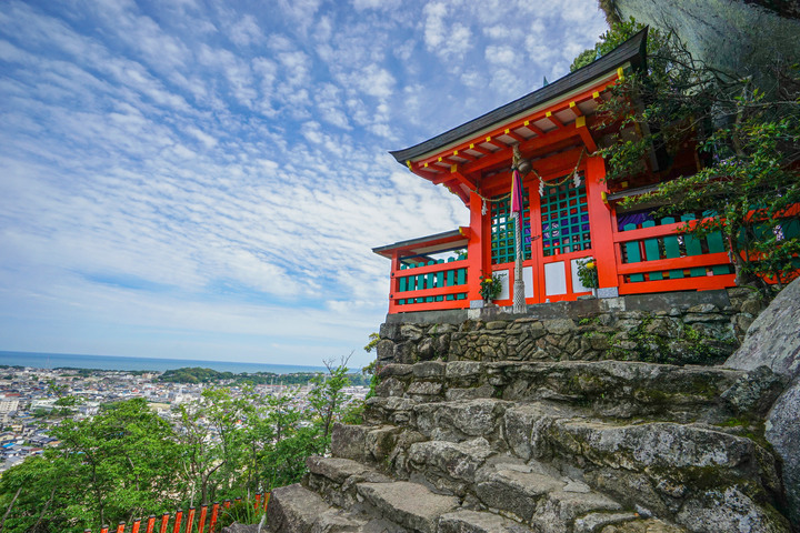
<svg viewBox="0 0 800 533">
<path fill-rule="evenodd" d="M 277 489 L 273 532 L 789 532 L 766 369 L 388 364 L 366 423 Z"/>
</svg>

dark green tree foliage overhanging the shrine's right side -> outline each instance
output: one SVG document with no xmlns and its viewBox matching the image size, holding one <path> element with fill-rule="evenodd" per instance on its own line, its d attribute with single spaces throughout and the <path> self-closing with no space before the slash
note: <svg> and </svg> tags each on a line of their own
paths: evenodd
<svg viewBox="0 0 800 533">
<path fill-rule="evenodd" d="M 592 52 L 639 29 L 633 20 L 616 24 Z M 600 153 L 610 182 L 648 172 L 666 181 L 627 199 L 628 207 L 661 205 L 657 217 L 694 215 L 682 231 L 698 238 L 720 232 L 739 284 L 769 280 L 780 286 L 800 266 L 800 71 L 780 58 L 762 68 L 770 76 L 712 69 L 673 32 L 651 29 L 647 69 L 627 76 L 601 105 L 600 129 L 619 130 Z M 756 79 L 772 81 L 758 87 Z M 619 133 L 626 129 L 637 134 Z M 696 171 L 672 171 L 687 149 L 697 152 Z"/>
</svg>

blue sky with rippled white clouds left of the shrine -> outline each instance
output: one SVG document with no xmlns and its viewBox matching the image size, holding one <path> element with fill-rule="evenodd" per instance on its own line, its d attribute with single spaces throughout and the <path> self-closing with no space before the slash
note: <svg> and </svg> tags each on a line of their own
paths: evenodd
<svg viewBox="0 0 800 533">
<path fill-rule="evenodd" d="M 596 0 L 0 2 L 0 350 L 366 364 L 387 153 L 564 76 Z"/>
</svg>

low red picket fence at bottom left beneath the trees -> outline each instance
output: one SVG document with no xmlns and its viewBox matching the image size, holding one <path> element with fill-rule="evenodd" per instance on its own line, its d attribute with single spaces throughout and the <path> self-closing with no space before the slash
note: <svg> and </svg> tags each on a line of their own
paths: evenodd
<svg viewBox="0 0 800 533">
<path fill-rule="evenodd" d="M 253 510 L 257 512 L 266 512 L 267 504 L 269 503 L 269 492 L 266 492 L 263 494 L 256 494 Z M 127 529 L 128 524 L 126 524 L 124 522 L 120 522 L 113 531 L 116 533 L 126 533 L 126 531 L 130 531 L 130 533 L 156 533 L 157 531 L 158 533 L 168 533 L 170 531 L 171 533 L 203 533 L 204 531 L 208 531 L 208 533 L 213 533 L 217 531 L 218 520 L 223 510 L 230 509 L 231 504 L 236 504 L 239 502 L 241 502 L 241 497 L 237 497 L 232 502 L 231 500 L 226 500 L 222 503 L 216 502 L 211 505 L 210 515 L 209 506 L 201 505 L 200 516 L 198 517 L 197 524 L 194 523 L 194 517 L 197 516 L 197 509 L 189 507 L 186 513 L 183 513 L 182 510 L 176 511 L 171 530 L 169 526 L 172 515 L 170 515 L 170 513 L 163 513 L 160 517 L 151 515 L 147 519 L 137 519 L 133 521 L 132 524 L 130 524 L 130 530 Z M 186 522 L 183 521 L 184 514 Z M 206 530 L 207 525 L 208 530 Z M 84 530 L 84 533 L 92 533 L 92 530 Z M 103 525 L 100 529 L 100 533 L 109 533 L 109 526 Z"/>
</svg>

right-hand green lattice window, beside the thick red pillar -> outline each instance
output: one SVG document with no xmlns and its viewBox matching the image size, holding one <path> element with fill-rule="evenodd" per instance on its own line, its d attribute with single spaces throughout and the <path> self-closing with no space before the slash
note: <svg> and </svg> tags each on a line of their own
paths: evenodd
<svg viewBox="0 0 800 533">
<path fill-rule="evenodd" d="M 544 188 L 544 193 L 541 199 L 544 257 L 591 248 L 586 185 L 576 189 L 570 180 Z"/>
</svg>

